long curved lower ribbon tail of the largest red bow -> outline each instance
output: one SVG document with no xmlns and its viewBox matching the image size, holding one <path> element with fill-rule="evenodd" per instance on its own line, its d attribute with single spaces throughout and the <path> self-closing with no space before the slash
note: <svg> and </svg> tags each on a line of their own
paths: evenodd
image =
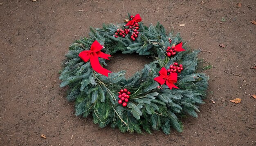
<svg viewBox="0 0 256 146">
<path fill-rule="evenodd" d="M 92 69 L 96 71 L 97 73 L 100 73 L 102 75 L 105 75 L 108 77 L 108 73 L 112 73 L 111 71 L 104 69 L 101 64 L 99 63 L 99 58 L 97 56 L 92 56 L 90 58 L 90 63 L 92 66 Z"/>
</svg>

